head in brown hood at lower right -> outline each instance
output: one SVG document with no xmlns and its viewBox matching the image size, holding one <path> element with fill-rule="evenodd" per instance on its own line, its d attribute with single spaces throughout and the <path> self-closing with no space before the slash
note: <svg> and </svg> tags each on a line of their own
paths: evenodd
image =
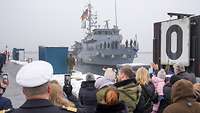
<svg viewBox="0 0 200 113">
<path fill-rule="evenodd" d="M 172 102 L 177 102 L 182 99 L 194 98 L 193 84 L 188 80 L 178 80 L 172 85 Z"/>
</svg>

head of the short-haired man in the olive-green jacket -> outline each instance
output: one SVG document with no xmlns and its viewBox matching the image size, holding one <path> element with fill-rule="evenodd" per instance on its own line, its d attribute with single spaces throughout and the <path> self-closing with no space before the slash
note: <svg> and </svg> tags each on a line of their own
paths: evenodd
<svg viewBox="0 0 200 113">
<path fill-rule="evenodd" d="M 118 80 L 123 81 L 123 80 L 128 80 L 128 79 L 133 79 L 135 78 L 135 72 L 132 70 L 131 66 L 123 66 L 119 70 L 119 76 Z"/>
</svg>

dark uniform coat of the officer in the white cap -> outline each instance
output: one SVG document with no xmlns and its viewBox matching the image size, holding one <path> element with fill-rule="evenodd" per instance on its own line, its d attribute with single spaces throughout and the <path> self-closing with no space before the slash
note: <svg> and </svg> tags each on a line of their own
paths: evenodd
<svg viewBox="0 0 200 113">
<path fill-rule="evenodd" d="M 27 100 L 20 108 L 11 113 L 72 113 L 52 105 L 48 100 Z"/>
</svg>

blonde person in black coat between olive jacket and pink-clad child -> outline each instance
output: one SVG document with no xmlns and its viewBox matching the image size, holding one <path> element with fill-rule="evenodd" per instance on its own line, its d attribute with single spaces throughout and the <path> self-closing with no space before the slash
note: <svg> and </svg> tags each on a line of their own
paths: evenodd
<svg viewBox="0 0 200 113">
<path fill-rule="evenodd" d="M 148 70 L 144 67 L 140 67 L 136 71 L 136 81 L 142 87 L 139 103 L 134 113 L 151 113 L 153 108 L 153 101 L 156 97 L 155 87 L 151 82 Z"/>
</svg>

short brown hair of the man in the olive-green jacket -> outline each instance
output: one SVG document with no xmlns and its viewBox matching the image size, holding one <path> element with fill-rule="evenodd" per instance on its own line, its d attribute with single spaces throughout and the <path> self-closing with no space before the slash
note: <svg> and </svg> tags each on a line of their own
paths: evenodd
<svg viewBox="0 0 200 113">
<path fill-rule="evenodd" d="M 135 78 L 135 72 L 132 70 L 131 66 L 126 65 L 120 69 L 120 73 L 124 73 L 128 78 Z"/>
</svg>

